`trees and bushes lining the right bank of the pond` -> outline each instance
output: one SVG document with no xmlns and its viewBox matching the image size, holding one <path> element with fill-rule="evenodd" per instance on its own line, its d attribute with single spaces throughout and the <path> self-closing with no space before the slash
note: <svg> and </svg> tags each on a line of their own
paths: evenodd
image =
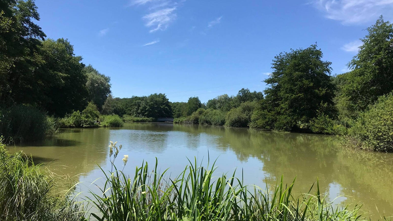
<svg viewBox="0 0 393 221">
<path fill-rule="evenodd" d="M 393 151 L 393 26 L 381 15 L 367 32 L 349 72 L 332 76 L 316 44 L 291 49 L 274 57 L 260 96 L 224 94 L 175 122 L 337 134 L 350 147 Z"/>
</svg>

